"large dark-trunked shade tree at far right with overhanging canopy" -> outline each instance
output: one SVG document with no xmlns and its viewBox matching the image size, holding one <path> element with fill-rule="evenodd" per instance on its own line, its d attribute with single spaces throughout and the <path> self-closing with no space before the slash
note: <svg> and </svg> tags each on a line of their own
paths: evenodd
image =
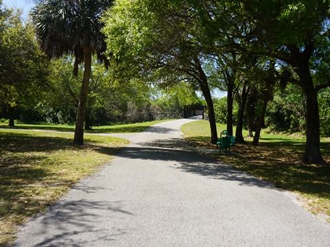
<svg viewBox="0 0 330 247">
<path fill-rule="evenodd" d="M 234 38 L 234 45 L 230 47 L 235 51 L 276 58 L 276 68 L 280 64 L 291 67 L 294 74 L 288 74 L 286 80 L 300 86 L 307 106 L 307 143 L 302 160 L 325 163 L 320 153 L 318 93 L 330 86 L 329 69 L 324 65 L 329 60 L 330 1 L 185 2 L 203 22 L 208 37 L 204 40 L 216 40 L 214 44 L 218 47 L 228 47 L 222 41 L 223 36 L 230 36 Z"/>
</svg>

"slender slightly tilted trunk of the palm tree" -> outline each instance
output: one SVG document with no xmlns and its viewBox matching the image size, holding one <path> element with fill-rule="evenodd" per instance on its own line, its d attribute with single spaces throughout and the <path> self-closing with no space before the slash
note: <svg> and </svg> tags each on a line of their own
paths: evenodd
<svg viewBox="0 0 330 247">
<path fill-rule="evenodd" d="M 84 121 L 89 88 L 89 78 L 91 77 L 91 48 L 84 47 L 85 71 L 83 84 L 80 89 L 78 111 L 76 117 L 76 130 L 74 132 L 74 144 L 83 145 L 84 143 Z"/>
</svg>

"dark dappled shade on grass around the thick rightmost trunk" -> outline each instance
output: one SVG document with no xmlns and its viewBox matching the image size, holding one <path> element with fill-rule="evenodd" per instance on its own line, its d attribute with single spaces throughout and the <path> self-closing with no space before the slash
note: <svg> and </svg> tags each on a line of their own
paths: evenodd
<svg viewBox="0 0 330 247">
<path fill-rule="evenodd" d="M 232 157 L 220 158 L 254 176 L 272 181 L 276 187 L 330 200 L 330 143 L 321 144 L 321 152 L 328 165 L 302 163 L 304 141 L 236 145 L 232 150 Z"/>
</svg>

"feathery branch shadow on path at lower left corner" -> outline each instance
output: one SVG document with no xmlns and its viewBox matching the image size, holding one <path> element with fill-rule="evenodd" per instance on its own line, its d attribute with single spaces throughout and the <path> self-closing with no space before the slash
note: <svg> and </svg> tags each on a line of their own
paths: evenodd
<svg viewBox="0 0 330 247">
<path fill-rule="evenodd" d="M 91 193 L 93 189 L 82 188 Z M 100 188 L 94 188 L 100 189 Z M 102 188 L 101 188 L 102 189 Z M 12 246 L 94 246 L 96 241 L 111 243 L 126 230 L 113 225 L 104 227 L 104 217 L 109 222 L 114 217 L 131 216 L 133 213 L 121 209 L 120 202 L 88 201 L 88 200 L 59 200 L 50 207 L 47 213 L 39 215 L 33 222 L 39 226 L 35 236 L 41 236 L 40 240 L 33 236 L 20 236 L 19 242 Z M 30 222 L 31 223 L 31 222 Z M 28 227 L 34 227 L 28 224 Z M 30 243 L 25 240 L 32 239 Z M 111 245 L 111 244 L 110 244 Z"/>
</svg>

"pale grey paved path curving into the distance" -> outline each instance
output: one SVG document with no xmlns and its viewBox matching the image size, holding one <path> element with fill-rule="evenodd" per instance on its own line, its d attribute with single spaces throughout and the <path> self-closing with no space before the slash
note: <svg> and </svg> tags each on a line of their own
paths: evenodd
<svg viewBox="0 0 330 247">
<path fill-rule="evenodd" d="M 25 225 L 14 246 L 330 246 L 286 193 L 195 152 L 181 119 L 128 148 Z"/>
</svg>

